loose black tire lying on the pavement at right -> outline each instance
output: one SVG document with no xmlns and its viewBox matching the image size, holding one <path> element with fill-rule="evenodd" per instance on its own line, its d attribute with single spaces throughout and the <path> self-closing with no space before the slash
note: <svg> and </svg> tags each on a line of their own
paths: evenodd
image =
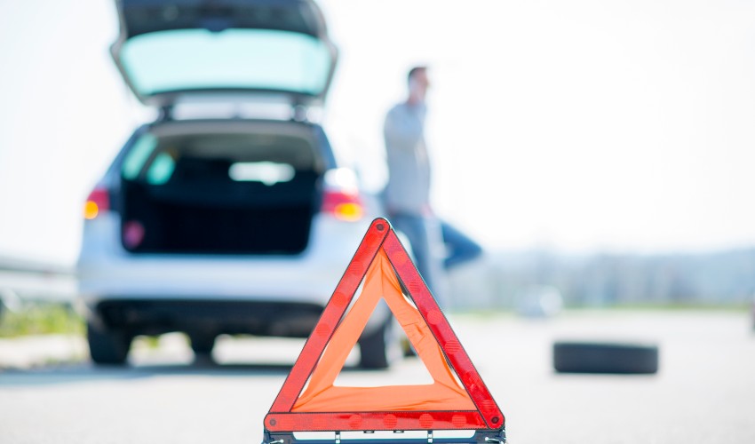
<svg viewBox="0 0 755 444">
<path fill-rule="evenodd" d="M 652 374 L 658 371 L 656 345 L 556 342 L 553 368 L 560 373 Z"/>
</svg>

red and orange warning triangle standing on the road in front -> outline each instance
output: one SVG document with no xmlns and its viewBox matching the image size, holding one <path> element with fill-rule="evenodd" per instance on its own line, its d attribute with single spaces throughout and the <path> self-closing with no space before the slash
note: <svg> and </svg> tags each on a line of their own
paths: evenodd
<svg viewBox="0 0 755 444">
<path fill-rule="evenodd" d="M 334 385 L 381 298 L 433 384 Z M 352 431 L 427 431 L 423 441 L 433 442 L 432 431 L 457 430 L 474 432 L 465 440 L 438 437 L 434 442 L 495 443 L 505 442 L 504 425 L 501 409 L 393 227 L 385 218 L 375 219 L 265 416 L 265 442 L 290 444 L 297 441 L 294 432 L 336 432 L 339 443 L 340 432 Z"/>
</svg>

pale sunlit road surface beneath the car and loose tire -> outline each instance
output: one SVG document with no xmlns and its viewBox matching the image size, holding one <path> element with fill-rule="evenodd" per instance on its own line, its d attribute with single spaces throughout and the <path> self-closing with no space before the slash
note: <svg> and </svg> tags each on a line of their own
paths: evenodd
<svg viewBox="0 0 755 444">
<path fill-rule="evenodd" d="M 451 323 L 520 443 L 755 442 L 755 331 L 747 313 L 566 313 L 549 321 L 456 315 Z M 556 339 L 660 346 L 651 376 L 560 375 Z M 177 336 L 137 347 L 129 369 L 88 363 L 0 369 L 0 443 L 257 444 L 303 342 L 221 338 L 195 363 Z M 9 353 L 8 345 L 0 353 Z M 74 347 L 76 348 L 76 347 Z M 0 356 L 2 362 L 2 356 Z M 425 380 L 420 361 L 347 369 L 346 385 Z"/>
</svg>

